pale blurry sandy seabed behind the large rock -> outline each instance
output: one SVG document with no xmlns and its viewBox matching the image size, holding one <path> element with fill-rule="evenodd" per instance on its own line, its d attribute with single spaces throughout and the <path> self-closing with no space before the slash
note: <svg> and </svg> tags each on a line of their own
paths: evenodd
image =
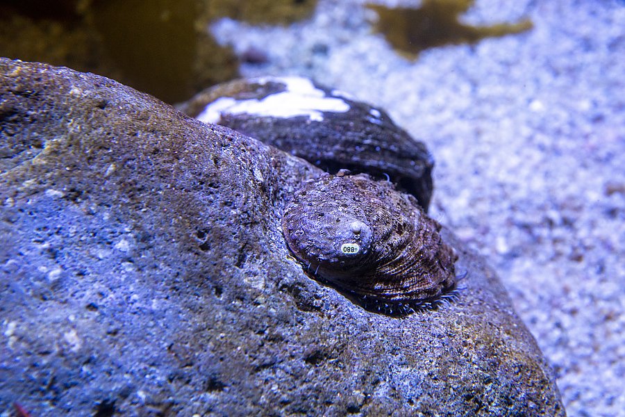
<svg viewBox="0 0 625 417">
<path fill-rule="evenodd" d="M 398 3 L 419 1 L 386 2 Z M 426 142 L 431 215 L 499 272 L 569 416 L 625 416 L 625 2 L 477 0 L 462 22 L 526 17 L 527 33 L 416 60 L 374 33 L 365 1 L 210 31 L 240 54 L 265 51 L 244 76 L 310 76 Z"/>
</svg>

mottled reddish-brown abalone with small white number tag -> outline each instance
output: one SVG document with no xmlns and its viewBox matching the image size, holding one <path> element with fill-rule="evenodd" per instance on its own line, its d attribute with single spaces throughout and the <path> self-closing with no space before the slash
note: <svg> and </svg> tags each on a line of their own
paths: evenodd
<svg viewBox="0 0 625 417">
<path fill-rule="evenodd" d="M 456 254 L 414 197 L 365 174 L 306 183 L 285 208 L 283 231 L 305 270 L 366 308 L 405 313 L 456 282 Z"/>
</svg>

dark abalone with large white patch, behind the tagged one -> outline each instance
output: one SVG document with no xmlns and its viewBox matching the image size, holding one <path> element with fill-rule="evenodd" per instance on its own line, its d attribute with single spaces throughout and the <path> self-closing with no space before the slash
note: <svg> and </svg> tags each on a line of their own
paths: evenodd
<svg viewBox="0 0 625 417">
<path fill-rule="evenodd" d="M 347 169 L 390 179 L 428 211 L 434 160 L 424 142 L 397 126 L 383 109 L 344 92 L 302 77 L 267 76 L 216 85 L 178 108 L 331 174 Z"/>
</svg>

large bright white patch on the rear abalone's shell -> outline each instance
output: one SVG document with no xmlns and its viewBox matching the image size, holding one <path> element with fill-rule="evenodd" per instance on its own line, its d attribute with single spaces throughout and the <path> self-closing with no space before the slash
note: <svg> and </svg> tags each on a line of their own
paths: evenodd
<svg viewBox="0 0 625 417">
<path fill-rule="evenodd" d="M 238 100 L 232 97 L 220 97 L 208 104 L 196 118 L 204 123 L 218 123 L 222 114 L 248 114 L 260 117 L 297 117 L 308 116 L 310 120 L 322 122 L 322 112 L 344 113 L 349 111 L 349 104 L 338 97 L 327 97 L 324 90 L 315 88 L 309 79 L 288 77 L 265 77 L 252 79 L 251 83 L 266 84 L 269 81 L 282 83 L 286 90 L 268 95 L 263 99 Z"/>
</svg>

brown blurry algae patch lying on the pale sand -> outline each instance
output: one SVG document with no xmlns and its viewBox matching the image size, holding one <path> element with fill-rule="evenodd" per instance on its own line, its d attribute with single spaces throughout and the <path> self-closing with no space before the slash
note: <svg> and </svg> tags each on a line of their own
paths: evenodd
<svg viewBox="0 0 625 417">
<path fill-rule="evenodd" d="M 492 26 L 470 26 L 458 22 L 474 0 L 423 0 L 420 8 L 367 7 L 378 13 L 376 31 L 383 33 L 394 49 L 415 58 L 419 51 L 447 44 L 475 43 L 483 38 L 522 33 L 533 27 L 530 20 Z"/>
</svg>

